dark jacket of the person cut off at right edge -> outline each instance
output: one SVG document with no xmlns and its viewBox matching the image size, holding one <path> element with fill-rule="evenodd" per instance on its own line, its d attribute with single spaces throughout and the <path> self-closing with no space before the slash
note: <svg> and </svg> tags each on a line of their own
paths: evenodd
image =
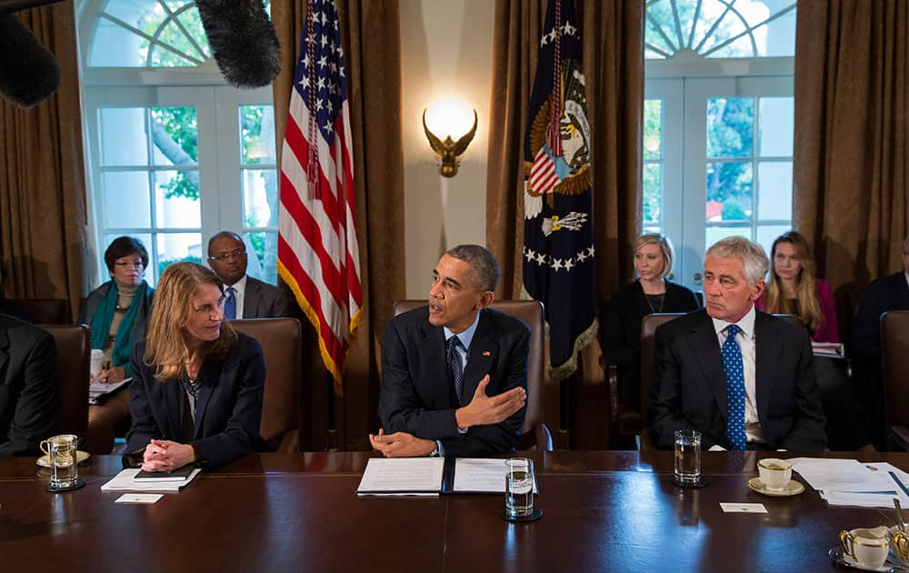
<svg viewBox="0 0 909 573">
<path fill-rule="evenodd" d="M 881 315 L 888 310 L 909 310 L 909 285 L 903 271 L 878 278 L 862 293 L 852 326 L 851 350 L 864 364 L 880 364 Z"/>
</svg>

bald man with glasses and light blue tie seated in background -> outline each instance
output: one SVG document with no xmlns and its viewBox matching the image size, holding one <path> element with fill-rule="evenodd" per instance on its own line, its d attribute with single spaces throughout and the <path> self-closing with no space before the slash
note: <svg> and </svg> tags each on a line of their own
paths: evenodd
<svg viewBox="0 0 909 573">
<path fill-rule="evenodd" d="M 208 266 L 225 284 L 225 318 L 287 317 L 287 298 L 277 286 L 246 275 L 246 246 L 236 233 L 221 231 L 208 240 Z"/>
</svg>

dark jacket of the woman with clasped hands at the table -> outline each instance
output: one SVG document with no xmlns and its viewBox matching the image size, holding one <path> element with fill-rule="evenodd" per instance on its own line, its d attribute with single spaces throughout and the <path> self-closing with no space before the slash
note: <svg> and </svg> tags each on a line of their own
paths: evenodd
<svg viewBox="0 0 909 573">
<path fill-rule="evenodd" d="M 130 365 L 129 410 L 133 426 L 126 435 L 128 450 L 135 452 L 155 439 L 183 443 L 181 403 L 185 390 L 179 380 L 162 382 L 155 366 L 143 363 L 145 342 L 135 345 Z M 210 357 L 199 371 L 195 406 L 195 447 L 208 467 L 221 466 L 248 452 L 261 451 L 259 436 L 265 391 L 265 361 L 255 338 L 237 334 L 223 360 Z"/>
</svg>

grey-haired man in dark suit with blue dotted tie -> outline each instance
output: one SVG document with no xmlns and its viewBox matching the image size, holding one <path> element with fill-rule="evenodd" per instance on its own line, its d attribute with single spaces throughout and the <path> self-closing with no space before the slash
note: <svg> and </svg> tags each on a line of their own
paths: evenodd
<svg viewBox="0 0 909 573">
<path fill-rule="evenodd" d="M 696 429 L 702 447 L 823 450 L 824 412 L 804 328 L 758 311 L 769 262 L 741 236 L 704 260 L 706 307 L 657 328 L 654 441 Z M 732 337 L 730 339 L 730 337 Z"/>
</svg>

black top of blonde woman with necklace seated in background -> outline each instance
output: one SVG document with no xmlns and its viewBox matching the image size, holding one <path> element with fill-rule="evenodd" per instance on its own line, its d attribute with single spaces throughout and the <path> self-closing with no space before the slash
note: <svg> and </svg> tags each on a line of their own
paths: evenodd
<svg viewBox="0 0 909 573">
<path fill-rule="evenodd" d="M 663 306 L 647 304 L 641 281 L 635 280 L 614 293 L 603 325 L 603 356 L 618 367 L 619 397 L 629 407 L 641 406 L 641 319 L 655 312 L 689 312 L 697 298 L 687 287 L 666 281 Z"/>
</svg>

